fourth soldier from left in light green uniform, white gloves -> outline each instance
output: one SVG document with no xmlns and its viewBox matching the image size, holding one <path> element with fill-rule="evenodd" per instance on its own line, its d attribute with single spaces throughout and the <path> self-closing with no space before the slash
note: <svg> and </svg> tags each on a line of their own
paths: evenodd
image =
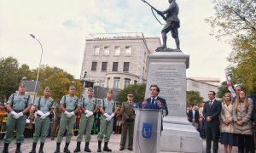
<svg viewBox="0 0 256 153">
<path fill-rule="evenodd" d="M 88 97 L 85 97 L 82 101 L 81 109 L 84 113 L 80 118 L 77 147 L 75 150 L 73 150 L 73 152 L 81 151 L 80 144 L 83 140 L 84 129 L 86 129 L 84 151 L 91 152 L 91 150 L 89 149 L 89 143 L 90 143 L 91 128 L 95 120 L 93 114 L 96 114 L 98 109 L 98 106 L 96 105 L 96 98 L 93 98 L 93 93 L 94 93 L 93 88 L 88 88 Z"/>
</svg>

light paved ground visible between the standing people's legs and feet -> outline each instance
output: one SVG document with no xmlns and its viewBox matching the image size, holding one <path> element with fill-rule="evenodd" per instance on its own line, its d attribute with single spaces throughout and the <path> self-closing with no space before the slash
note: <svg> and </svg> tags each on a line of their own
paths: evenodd
<svg viewBox="0 0 256 153">
<path fill-rule="evenodd" d="M 110 149 L 112 149 L 112 152 L 122 152 L 122 153 L 131 153 L 132 151 L 130 150 L 123 150 L 123 151 L 119 151 L 119 140 L 120 140 L 120 134 L 112 134 L 111 135 L 111 139 L 110 142 L 108 144 L 108 147 Z M 73 152 L 73 150 L 76 147 L 76 136 L 72 137 L 71 139 L 71 144 L 69 145 L 69 150 L 71 152 Z M 15 141 L 13 141 L 13 143 L 11 143 L 9 145 L 9 153 L 15 153 Z M 204 148 L 205 148 L 205 140 L 204 140 Z M 37 145 L 37 152 L 39 149 L 39 143 Z M 62 143 L 61 143 L 61 151 L 63 151 L 65 145 L 65 138 L 63 139 Z M 56 147 L 56 142 L 55 140 L 50 140 L 49 138 L 46 140 L 45 144 L 44 144 L 44 152 L 45 153 L 53 153 L 55 151 L 55 147 Z M 102 147 L 103 147 L 103 143 L 102 143 Z M 21 150 L 22 153 L 28 153 L 30 150 L 32 149 L 32 139 L 25 139 L 24 143 L 21 145 Z M 84 142 L 81 144 L 81 149 L 83 149 L 84 152 Z M 3 139 L 0 139 L 0 151 L 3 150 Z M 91 138 L 91 142 L 90 142 L 90 150 L 92 150 L 92 152 L 96 152 L 97 150 L 97 141 L 96 141 L 96 135 L 92 135 Z M 204 151 L 205 152 L 205 151 Z M 224 153 L 224 146 L 219 144 L 219 153 Z M 234 149 L 232 150 L 232 152 L 236 153 L 237 152 L 237 148 L 234 147 Z"/>
</svg>

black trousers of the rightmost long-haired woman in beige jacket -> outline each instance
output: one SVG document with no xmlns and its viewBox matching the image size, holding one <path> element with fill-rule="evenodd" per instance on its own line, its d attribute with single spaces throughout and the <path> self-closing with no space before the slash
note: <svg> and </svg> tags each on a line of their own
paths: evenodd
<svg viewBox="0 0 256 153">
<path fill-rule="evenodd" d="M 249 152 L 251 137 L 252 137 L 251 135 L 237 134 L 237 144 L 238 144 L 239 153 Z"/>
</svg>

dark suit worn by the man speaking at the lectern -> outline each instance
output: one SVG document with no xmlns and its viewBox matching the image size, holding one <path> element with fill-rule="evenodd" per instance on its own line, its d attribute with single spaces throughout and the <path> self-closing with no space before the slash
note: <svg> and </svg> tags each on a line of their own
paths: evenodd
<svg viewBox="0 0 256 153">
<path fill-rule="evenodd" d="M 160 100 L 161 106 L 159 106 L 159 105 L 156 104 L 156 101 L 157 101 L 157 100 Z M 166 105 L 166 99 L 157 97 L 156 101 L 154 102 L 154 100 L 151 101 L 151 97 L 150 97 L 150 98 L 146 99 L 146 101 L 147 101 L 147 104 L 144 105 L 144 108 L 145 108 L 145 109 L 156 109 L 156 110 L 163 109 L 163 110 L 166 111 L 165 116 L 168 115 L 168 108 L 167 108 L 167 105 Z M 161 121 L 161 131 L 162 131 L 162 130 L 163 130 L 163 118 L 162 118 L 162 121 Z"/>
</svg>

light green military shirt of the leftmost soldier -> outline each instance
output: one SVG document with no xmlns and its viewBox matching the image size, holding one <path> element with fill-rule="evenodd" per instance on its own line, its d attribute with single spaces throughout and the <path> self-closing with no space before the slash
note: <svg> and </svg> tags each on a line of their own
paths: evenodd
<svg viewBox="0 0 256 153">
<path fill-rule="evenodd" d="M 18 92 L 9 97 L 7 104 L 13 105 L 12 109 L 14 111 L 23 111 L 26 109 L 26 106 L 32 105 L 32 98 L 28 94 L 20 96 Z"/>
</svg>

